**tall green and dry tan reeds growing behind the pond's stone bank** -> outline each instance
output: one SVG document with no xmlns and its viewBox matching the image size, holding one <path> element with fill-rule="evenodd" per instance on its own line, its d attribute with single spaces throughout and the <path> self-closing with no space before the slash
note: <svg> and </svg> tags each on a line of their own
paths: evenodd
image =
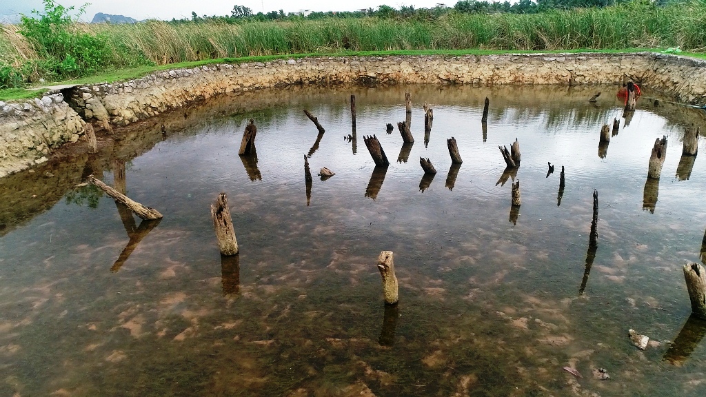
<svg viewBox="0 0 706 397">
<path fill-rule="evenodd" d="M 67 71 L 47 66 L 52 55 L 20 34 L 18 26 L 1 29 L 0 88 L 8 88 L 39 78 L 56 80 L 135 66 L 275 54 L 662 47 L 705 52 L 706 1 L 665 6 L 633 1 L 606 8 L 528 14 L 450 11 L 436 18 L 71 23 L 68 30 L 96 37 L 101 47 L 91 53 L 92 67 Z"/>
</svg>

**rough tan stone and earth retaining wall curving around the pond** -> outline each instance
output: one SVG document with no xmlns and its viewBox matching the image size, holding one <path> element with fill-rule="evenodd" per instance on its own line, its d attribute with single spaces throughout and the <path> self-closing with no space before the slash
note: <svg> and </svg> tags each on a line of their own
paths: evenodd
<svg viewBox="0 0 706 397">
<path fill-rule="evenodd" d="M 644 52 L 311 57 L 156 72 L 124 83 L 62 90 L 73 108 L 71 112 L 56 95 L 5 105 L 13 107 L 8 112 L 0 107 L 0 177 L 42 161 L 47 148 L 76 141 L 82 119 L 97 125 L 107 122 L 124 126 L 222 93 L 290 84 L 580 85 L 622 83 L 627 78 L 673 95 L 678 101 L 703 104 L 705 66 L 706 61 Z M 45 110 L 39 102 L 52 110 Z"/>
</svg>

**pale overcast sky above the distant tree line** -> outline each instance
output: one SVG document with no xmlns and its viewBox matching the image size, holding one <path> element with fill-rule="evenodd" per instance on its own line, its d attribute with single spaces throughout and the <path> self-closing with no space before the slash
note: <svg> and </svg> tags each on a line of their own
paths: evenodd
<svg viewBox="0 0 706 397">
<path fill-rule="evenodd" d="M 64 6 L 78 8 L 86 3 L 85 0 L 58 0 Z M 456 4 L 456 0 L 92 0 L 86 9 L 83 19 L 93 19 L 95 13 L 109 13 L 129 16 L 137 20 L 157 18 L 171 20 L 172 18 L 191 18 L 191 11 L 203 15 L 227 15 L 233 6 L 246 6 L 254 13 L 263 11 L 285 10 L 285 13 L 310 10 L 310 11 L 353 11 L 359 8 L 377 8 L 381 4 L 400 8 L 400 6 L 414 6 L 415 8 L 429 8 L 438 3 L 447 6 Z M 13 19 L 19 13 L 28 14 L 32 8 L 43 10 L 42 0 L 0 0 L 0 18 Z"/>
</svg>

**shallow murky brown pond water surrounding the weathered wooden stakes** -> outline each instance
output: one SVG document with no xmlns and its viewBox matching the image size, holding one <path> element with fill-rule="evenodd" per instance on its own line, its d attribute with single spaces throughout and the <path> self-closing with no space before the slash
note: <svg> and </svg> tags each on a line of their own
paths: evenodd
<svg viewBox="0 0 706 397">
<path fill-rule="evenodd" d="M 706 159 L 689 167 L 681 136 L 704 114 L 642 98 L 626 125 L 614 87 L 407 89 L 411 148 L 396 128 L 403 87 L 290 88 L 221 97 L 116 131 L 98 156 L 0 180 L 0 395 L 702 396 L 706 328 L 687 324 L 681 265 L 700 261 Z M 250 118 L 257 158 L 239 158 Z M 599 148 L 614 118 L 618 135 Z M 387 170 L 373 165 L 370 134 Z M 650 182 L 663 135 L 662 178 Z M 522 162 L 503 177 L 498 145 L 515 138 Z M 336 172 L 314 177 L 309 198 L 306 154 L 315 173 Z M 73 188 L 90 173 L 113 184 L 122 167 L 128 196 L 162 212 L 159 223 Z M 220 191 L 241 246 L 233 259 L 220 257 L 210 220 Z M 396 308 L 383 304 L 381 250 L 395 252 Z M 638 350 L 629 328 L 659 344 Z"/>
</svg>

